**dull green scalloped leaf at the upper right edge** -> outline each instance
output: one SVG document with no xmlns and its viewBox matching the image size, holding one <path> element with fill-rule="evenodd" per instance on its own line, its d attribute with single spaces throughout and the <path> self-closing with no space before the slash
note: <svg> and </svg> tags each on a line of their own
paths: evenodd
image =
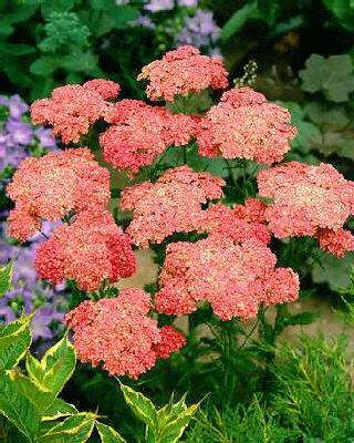
<svg viewBox="0 0 354 443">
<path fill-rule="evenodd" d="M 347 54 L 330 55 L 327 59 L 312 54 L 299 75 L 304 91 L 322 91 L 332 102 L 346 102 L 348 93 L 354 91 L 353 63 Z"/>
</svg>

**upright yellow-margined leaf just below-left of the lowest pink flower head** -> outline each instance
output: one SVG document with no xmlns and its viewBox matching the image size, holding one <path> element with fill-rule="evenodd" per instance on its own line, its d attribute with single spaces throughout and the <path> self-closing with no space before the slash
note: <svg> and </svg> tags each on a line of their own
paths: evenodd
<svg viewBox="0 0 354 443">
<path fill-rule="evenodd" d="M 40 368 L 35 359 L 28 359 L 29 374 L 33 377 L 40 385 L 43 385 L 52 392 L 53 400 L 71 378 L 75 364 L 75 350 L 66 336 L 45 352 L 41 360 Z"/>
</svg>

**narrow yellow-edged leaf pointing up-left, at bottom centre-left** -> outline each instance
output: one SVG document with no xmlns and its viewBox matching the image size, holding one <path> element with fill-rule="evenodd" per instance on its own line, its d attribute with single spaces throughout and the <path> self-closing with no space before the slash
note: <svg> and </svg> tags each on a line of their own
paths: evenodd
<svg viewBox="0 0 354 443">
<path fill-rule="evenodd" d="M 140 392 L 121 383 L 124 400 L 134 411 L 134 413 L 143 420 L 150 429 L 155 429 L 157 423 L 157 411 L 153 402 L 143 395 Z"/>
</svg>

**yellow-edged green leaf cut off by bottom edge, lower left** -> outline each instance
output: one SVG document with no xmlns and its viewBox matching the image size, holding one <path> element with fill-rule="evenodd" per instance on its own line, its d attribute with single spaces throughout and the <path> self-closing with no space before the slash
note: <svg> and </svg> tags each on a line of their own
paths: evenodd
<svg viewBox="0 0 354 443">
<path fill-rule="evenodd" d="M 65 419 L 38 437 L 38 443 L 84 443 L 93 431 L 95 415 L 81 413 Z"/>
</svg>

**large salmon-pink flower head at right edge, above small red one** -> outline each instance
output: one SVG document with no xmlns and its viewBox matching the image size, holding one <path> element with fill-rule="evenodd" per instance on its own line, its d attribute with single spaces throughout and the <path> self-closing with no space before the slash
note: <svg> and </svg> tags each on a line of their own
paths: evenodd
<svg viewBox="0 0 354 443">
<path fill-rule="evenodd" d="M 353 182 L 329 164 L 290 162 L 260 172 L 257 181 L 260 195 L 273 199 L 266 219 L 278 238 L 336 231 L 354 210 Z"/>
</svg>

